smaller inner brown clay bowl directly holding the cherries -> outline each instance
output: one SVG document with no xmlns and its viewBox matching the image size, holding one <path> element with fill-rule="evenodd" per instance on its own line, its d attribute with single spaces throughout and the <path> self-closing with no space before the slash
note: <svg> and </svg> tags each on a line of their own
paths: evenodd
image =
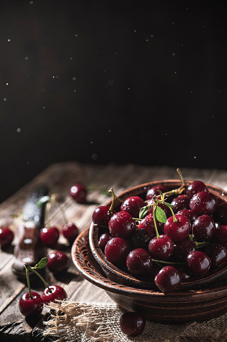
<svg viewBox="0 0 227 342">
<path fill-rule="evenodd" d="M 192 183 L 193 181 L 187 182 L 188 184 Z M 140 196 L 145 199 L 147 190 L 155 185 L 164 185 L 168 189 L 175 189 L 178 188 L 180 183 L 180 180 L 166 180 L 166 181 L 156 181 L 152 183 L 142 184 L 136 187 L 133 187 L 131 189 L 128 189 L 124 191 L 122 194 L 120 194 L 118 197 L 124 200 L 125 198 L 129 196 Z M 214 185 L 207 184 L 206 186 L 212 194 L 214 194 L 218 202 L 223 202 L 225 199 L 227 200 L 227 197 L 225 197 L 227 194 L 226 192 Z M 110 205 L 111 201 L 107 203 L 107 205 Z M 115 210 L 119 211 L 119 201 L 116 201 Z M 136 278 L 135 276 L 129 274 L 128 272 L 122 271 L 120 268 L 116 267 L 112 263 L 110 263 L 102 249 L 99 247 L 99 237 L 103 233 L 103 228 L 94 225 L 91 223 L 90 231 L 89 231 L 89 242 L 90 242 L 90 248 L 91 252 L 96 259 L 96 261 L 100 264 L 102 267 L 104 273 L 106 276 L 112 280 L 115 281 L 118 284 L 125 285 L 125 286 L 131 286 L 136 287 L 139 289 L 152 289 L 156 290 L 156 286 L 153 282 L 153 280 L 141 280 Z M 163 265 L 163 267 L 165 264 Z M 222 279 L 227 275 L 227 262 L 223 265 L 219 266 L 212 272 L 208 272 L 205 276 L 202 278 L 193 278 L 188 279 L 182 282 L 181 284 L 181 290 L 193 290 L 198 289 L 207 286 L 208 284 L 215 283 L 216 281 Z"/>
</svg>

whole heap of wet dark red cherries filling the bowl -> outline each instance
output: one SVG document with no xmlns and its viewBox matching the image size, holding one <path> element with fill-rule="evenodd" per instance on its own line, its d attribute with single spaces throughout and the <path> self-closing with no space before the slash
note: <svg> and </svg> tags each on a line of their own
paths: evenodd
<svg viewBox="0 0 227 342">
<path fill-rule="evenodd" d="M 99 238 L 106 259 L 163 292 L 202 277 L 227 260 L 227 202 L 217 202 L 201 181 L 168 190 L 152 187 L 146 201 L 126 198 L 119 212 L 101 206 L 92 221 L 108 231 Z M 174 198 L 173 198 L 174 197 Z M 215 223 L 216 222 L 216 223 Z M 164 267 L 163 267 L 164 266 Z"/>
</svg>

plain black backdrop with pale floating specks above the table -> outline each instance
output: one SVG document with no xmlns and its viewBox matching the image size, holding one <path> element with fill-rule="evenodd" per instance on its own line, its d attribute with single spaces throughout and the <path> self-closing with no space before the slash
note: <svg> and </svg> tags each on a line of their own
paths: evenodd
<svg viewBox="0 0 227 342">
<path fill-rule="evenodd" d="M 0 200 L 63 160 L 226 169 L 225 16 L 207 1 L 2 2 Z"/>
</svg>

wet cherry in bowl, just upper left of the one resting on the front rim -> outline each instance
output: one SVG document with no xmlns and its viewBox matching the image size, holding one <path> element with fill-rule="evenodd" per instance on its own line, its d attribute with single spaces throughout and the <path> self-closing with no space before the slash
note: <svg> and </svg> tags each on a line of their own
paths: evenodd
<svg viewBox="0 0 227 342">
<path fill-rule="evenodd" d="M 151 256 L 143 248 L 137 248 L 131 251 L 126 259 L 128 272 L 133 275 L 149 274 L 152 270 Z"/>
</svg>

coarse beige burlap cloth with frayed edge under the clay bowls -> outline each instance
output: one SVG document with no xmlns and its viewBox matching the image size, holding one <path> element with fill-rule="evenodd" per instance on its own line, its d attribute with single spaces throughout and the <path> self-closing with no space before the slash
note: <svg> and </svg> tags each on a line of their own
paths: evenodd
<svg viewBox="0 0 227 342">
<path fill-rule="evenodd" d="M 51 317 L 44 322 L 44 335 L 58 342 L 223 342 L 227 341 L 227 313 L 202 322 L 161 324 L 146 322 L 143 333 L 127 337 L 119 328 L 124 312 L 119 306 L 62 301 L 47 305 Z"/>
</svg>

